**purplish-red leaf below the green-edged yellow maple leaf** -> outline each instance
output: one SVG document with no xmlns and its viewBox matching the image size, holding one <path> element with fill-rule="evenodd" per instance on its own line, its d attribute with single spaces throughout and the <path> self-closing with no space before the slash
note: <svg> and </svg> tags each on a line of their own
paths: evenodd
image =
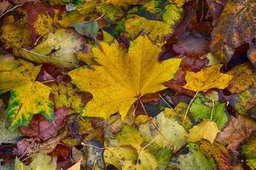
<svg viewBox="0 0 256 170">
<path fill-rule="evenodd" d="M 47 140 L 55 136 L 55 133 L 63 126 L 62 123 L 67 115 L 68 109 L 65 107 L 55 111 L 53 122 L 49 122 L 42 115 L 35 115 L 27 127 L 20 127 L 20 131 L 28 137 Z"/>
</svg>

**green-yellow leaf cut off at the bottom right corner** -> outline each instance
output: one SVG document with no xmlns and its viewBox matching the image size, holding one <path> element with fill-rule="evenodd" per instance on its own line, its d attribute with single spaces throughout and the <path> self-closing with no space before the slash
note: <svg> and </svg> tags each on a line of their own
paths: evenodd
<svg viewBox="0 0 256 170">
<path fill-rule="evenodd" d="M 256 133 L 253 133 L 241 147 L 241 154 L 246 156 L 247 166 L 256 169 Z"/>
</svg>

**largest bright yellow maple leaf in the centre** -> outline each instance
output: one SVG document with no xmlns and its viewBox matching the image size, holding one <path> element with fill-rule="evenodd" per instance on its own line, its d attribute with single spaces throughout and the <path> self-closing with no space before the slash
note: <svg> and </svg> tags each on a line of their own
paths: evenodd
<svg viewBox="0 0 256 170">
<path fill-rule="evenodd" d="M 144 36 L 132 41 L 127 53 L 116 43 L 102 42 L 101 47 L 92 49 L 100 64 L 94 70 L 78 68 L 68 73 L 78 88 L 93 95 L 83 116 L 108 118 L 119 111 L 124 119 L 138 98 L 165 89 L 162 83 L 174 77 L 181 62 L 167 59 L 160 63 L 160 47 Z"/>
</svg>

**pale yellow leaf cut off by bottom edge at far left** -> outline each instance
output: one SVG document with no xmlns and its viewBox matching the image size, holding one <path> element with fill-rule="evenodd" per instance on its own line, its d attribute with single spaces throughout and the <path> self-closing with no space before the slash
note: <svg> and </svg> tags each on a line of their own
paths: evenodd
<svg viewBox="0 0 256 170">
<path fill-rule="evenodd" d="M 38 153 L 28 166 L 24 165 L 17 157 L 15 159 L 15 170 L 55 170 L 56 167 L 56 161 L 43 153 Z"/>
</svg>

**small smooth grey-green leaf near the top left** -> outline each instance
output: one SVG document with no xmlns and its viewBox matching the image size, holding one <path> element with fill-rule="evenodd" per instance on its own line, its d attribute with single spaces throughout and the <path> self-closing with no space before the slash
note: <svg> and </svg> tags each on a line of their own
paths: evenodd
<svg viewBox="0 0 256 170">
<path fill-rule="evenodd" d="M 73 24 L 72 27 L 77 31 L 79 34 L 90 37 L 92 39 L 96 39 L 99 26 L 96 20 L 92 22 L 80 22 Z"/>
</svg>

